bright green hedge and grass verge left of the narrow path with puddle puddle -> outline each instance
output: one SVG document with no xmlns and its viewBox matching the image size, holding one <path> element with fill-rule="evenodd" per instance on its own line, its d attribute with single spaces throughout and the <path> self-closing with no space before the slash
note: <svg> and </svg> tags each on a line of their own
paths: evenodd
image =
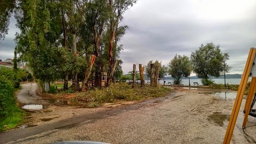
<svg viewBox="0 0 256 144">
<path fill-rule="evenodd" d="M 14 93 L 27 76 L 26 70 L 0 67 L 0 132 L 13 129 L 22 122 L 24 113 L 18 107 Z"/>
</svg>

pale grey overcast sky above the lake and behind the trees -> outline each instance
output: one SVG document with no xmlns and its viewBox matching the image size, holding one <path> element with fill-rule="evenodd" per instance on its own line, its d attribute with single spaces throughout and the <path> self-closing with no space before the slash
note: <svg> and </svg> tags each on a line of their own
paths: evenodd
<svg viewBox="0 0 256 144">
<path fill-rule="evenodd" d="M 229 53 L 230 74 L 242 74 L 250 47 L 256 47 L 255 7 L 254 0 L 138 0 L 121 23 L 129 26 L 119 43 L 124 45 L 124 74 L 133 63 L 158 60 L 167 65 L 176 53 L 190 56 L 211 42 Z M 9 35 L 0 41 L 0 59 L 13 58 L 17 30 L 11 23 Z"/>
</svg>

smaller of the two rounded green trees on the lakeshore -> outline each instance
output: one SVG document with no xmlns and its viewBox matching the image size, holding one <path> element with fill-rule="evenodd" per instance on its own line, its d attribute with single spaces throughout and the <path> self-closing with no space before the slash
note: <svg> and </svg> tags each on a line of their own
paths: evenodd
<svg viewBox="0 0 256 144">
<path fill-rule="evenodd" d="M 175 55 L 168 65 L 169 74 L 173 77 L 174 84 L 180 84 L 181 78 L 188 77 L 192 71 L 191 63 L 186 55 Z"/>
</svg>

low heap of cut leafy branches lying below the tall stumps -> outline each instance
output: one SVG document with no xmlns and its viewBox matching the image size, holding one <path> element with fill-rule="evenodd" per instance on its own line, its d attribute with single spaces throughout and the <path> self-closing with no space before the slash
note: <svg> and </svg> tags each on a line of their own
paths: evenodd
<svg viewBox="0 0 256 144">
<path fill-rule="evenodd" d="M 141 100 L 147 97 L 163 97 L 172 90 L 167 87 L 140 87 L 137 85 L 134 89 L 127 83 L 112 84 L 106 89 L 94 89 L 85 93 L 77 94 L 76 99 L 88 101 L 88 107 L 98 107 L 103 103 L 112 103 L 116 101 Z"/>
</svg>

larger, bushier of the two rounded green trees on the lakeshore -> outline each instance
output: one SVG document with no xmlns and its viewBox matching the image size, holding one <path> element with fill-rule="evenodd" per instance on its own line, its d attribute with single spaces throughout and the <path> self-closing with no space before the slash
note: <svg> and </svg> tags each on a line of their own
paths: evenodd
<svg viewBox="0 0 256 144">
<path fill-rule="evenodd" d="M 209 76 L 219 77 L 224 70 L 228 73 L 231 69 L 226 63 L 229 59 L 228 53 L 221 53 L 220 46 L 213 43 L 202 44 L 198 50 L 191 53 L 190 59 L 193 71 L 199 78 L 206 79 L 204 81 L 207 81 Z"/>
</svg>

